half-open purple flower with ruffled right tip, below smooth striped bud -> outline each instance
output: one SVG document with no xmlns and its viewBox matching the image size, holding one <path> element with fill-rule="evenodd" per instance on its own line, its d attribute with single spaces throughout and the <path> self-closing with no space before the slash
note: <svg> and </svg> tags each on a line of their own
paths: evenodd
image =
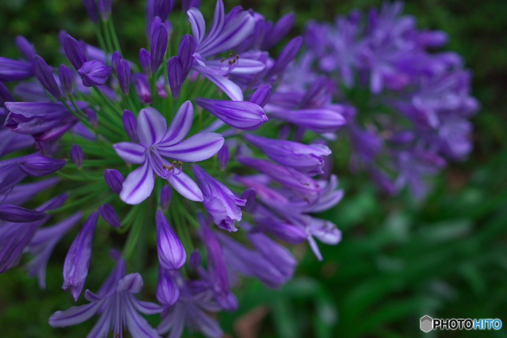
<svg viewBox="0 0 507 338">
<path fill-rule="evenodd" d="M 331 150 L 323 144 L 306 145 L 252 134 L 245 134 L 244 138 L 261 149 L 271 160 L 308 175 L 323 173 L 322 157 L 331 154 Z"/>
</svg>

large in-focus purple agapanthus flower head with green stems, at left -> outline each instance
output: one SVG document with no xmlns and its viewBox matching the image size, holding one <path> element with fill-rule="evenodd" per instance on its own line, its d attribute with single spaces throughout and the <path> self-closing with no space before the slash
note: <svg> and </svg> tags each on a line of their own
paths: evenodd
<svg viewBox="0 0 507 338">
<path fill-rule="evenodd" d="M 51 326 L 98 314 L 89 337 L 122 337 L 125 329 L 178 337 L 185 327 L 220 337 L 209 313 L 237 308 L 240 276 L 278 287 L 297 264 L 284 243 L 308 241 L 322 259 L 315 239 L 340 242 L 336 226 L 313 215 L 343 196 L 319 134 L 345 125 L 351 108 L 332 102 L 324 78 L 301 97 L 283 84 L 273 92 L 295 76 L 287 72 L 301 36 L 277 57 L 268 52 L 293 14 L 273 23 L 241 7 L 226 14 L 218 0 L 207 25 L 199 1 L 183 1 L 179 13 L 172 0 L 148 0 L 148 48 L 129 60 L 112 1 L 83 4 L 99 47 L 61 31 L 59 66 L 23 36 L 22 58 L 0 58 L 0 273 L 27 253 L 29 276 L 44 288 L 52 251 L 70 233 L 62 289 L 76 301 L 86 290 L 90 303 L 55 312 Z M 43 191 L 54 197 L 37 206 Z M 59 222 L 46 225 L 55 214 Z M 85 286 L 98 263 L 97 233 L 115 243 L 128 234 L 121 252 L 111 250 L 116 267 L 92 293 Z M 156 248 L 139 245 L 155 238 Z M 160 305 L 134 296 L 143 280 L 127 274 L 126 263 L 136 250 L 158 253 L 149 265 L 158 266 Z M 160 313 L 160 325 L 139 312 Z"/>
</svg>

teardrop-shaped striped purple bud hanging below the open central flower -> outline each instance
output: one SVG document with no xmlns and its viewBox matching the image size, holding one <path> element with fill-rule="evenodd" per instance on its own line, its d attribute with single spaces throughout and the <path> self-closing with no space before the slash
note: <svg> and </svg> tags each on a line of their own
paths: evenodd
<svg viewBox="0 0 507 338">
<path fill-rule="evenodd" d="M 162 210 L 157 210 L 155 224 L 157 226 L 157 250 L 160 265 L 167 270 L 177 270 L 183 267 L 187 260 L 187 253 Z"/>
</svg>

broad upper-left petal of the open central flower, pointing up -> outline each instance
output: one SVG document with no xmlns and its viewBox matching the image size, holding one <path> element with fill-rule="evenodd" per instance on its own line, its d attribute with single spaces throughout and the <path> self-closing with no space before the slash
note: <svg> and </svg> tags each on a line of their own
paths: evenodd
<svg viewBox="0 0 507 338">
<path fill-rule="evenodd" d="M 139 142 L 145 147 L 158 143 L 164 138 L 167 122 L 160 112 L 152 107 L 139 111 L 137 117 L 137 135 Z"/>
</svg>

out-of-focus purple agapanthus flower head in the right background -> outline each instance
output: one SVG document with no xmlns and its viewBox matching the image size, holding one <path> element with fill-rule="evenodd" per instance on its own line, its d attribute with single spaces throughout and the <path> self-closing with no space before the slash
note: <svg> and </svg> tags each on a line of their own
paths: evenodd
<svg viewBox="0 0 507 338">
<path fill-rule="evenodd" d="M 438 51 L 447 34 L 418 29 L 402 10 L 402 2 L 384 3 L 364 18 L 354 10 L 334 24 L 308 22 L 306 51 L 285 72 L 266 112 L 312 129 L 287 108 L 325 106 L 329 97 L 348 105 L 341 132 L 351 143 L 352 169 L 365 168 L 389 193 L 409 186 L 420 198 L 425 176 L 470 152 L 469 118 L 479 103 L 460 56 Z"/>
</svg>

